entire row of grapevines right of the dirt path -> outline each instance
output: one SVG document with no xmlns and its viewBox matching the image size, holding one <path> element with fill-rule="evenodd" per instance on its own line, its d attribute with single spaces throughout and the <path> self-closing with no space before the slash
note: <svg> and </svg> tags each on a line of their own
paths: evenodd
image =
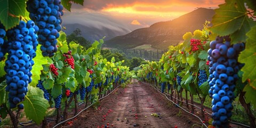
<svg viewBox="0 0 256 128">
<path fill-rule="evenodd" d="M 216 127 L 229 127 L 232 103 L 239 97 L 251 127 L 256 127 L 252 113 L 256 106 L 255 6 L 249 0 L 228 0 L 219 5 L 212 25 L 206 21 L 203 30 L 183 35 L 182 43 L 170 46 L 158 62 L 142 65 L 137 76 L 162 92 L 175 93 L 179 100 L 183 100 L 185 91 L 187 107 L 188 92 L 192 104 L 194 95 L 198 95 L 202 116 L 205 98 L 210 96 L 212 119 L 208 123 Z M 193 106 L 189 109 L 194 113 Z"/>
</svg>

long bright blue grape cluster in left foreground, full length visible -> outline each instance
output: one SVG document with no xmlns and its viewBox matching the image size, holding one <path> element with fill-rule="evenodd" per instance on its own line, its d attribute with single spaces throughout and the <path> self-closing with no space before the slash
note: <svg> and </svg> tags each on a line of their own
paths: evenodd
<svg viewBox="0 0 256 128">
<path fill-rule="evenodd" d="M 31 20 L 20 21 L 19 25 L 7 31 L 6 91 L 9 91 L 10 107 L 15 108 L 24 100 L 28 92 L 28 84 L 32 81 L 30 72 L 36 57 L 37 26 Z M 22 105 L 20 105 L 22 106 Z"/>
</svg>

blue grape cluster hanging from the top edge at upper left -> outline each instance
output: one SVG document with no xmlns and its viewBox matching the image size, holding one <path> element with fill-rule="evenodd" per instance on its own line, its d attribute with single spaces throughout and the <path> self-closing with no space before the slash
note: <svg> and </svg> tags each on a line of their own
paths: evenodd
<svg viewBox="0 0 256 128">
<path fill-rule="evenodd" d="M 29 0 L 27 11 L 29 18 L 39 27 L 38 41 L 42 44 L 43 56 L 52 57 L 57 52 L 57 38 L 61 30 L 63 15 L 61 0 Z"/>
</svg>

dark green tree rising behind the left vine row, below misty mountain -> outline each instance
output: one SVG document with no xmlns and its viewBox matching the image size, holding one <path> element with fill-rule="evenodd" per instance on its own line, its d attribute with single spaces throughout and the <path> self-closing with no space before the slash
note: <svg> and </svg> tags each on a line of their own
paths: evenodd
<svg viewBox="0 0 256 128">
<path fill-rule="evenodd" d="M 70 35 L 67 35 L 67 42 L 76 42 L 80 45 L 82 45 L 83 47 L 85 47 L 85 49 L 88 49 L 89 47 L 91 47 L 91 42 L 87 41 L 84 37 L 81 36 L 82 31 L 79 28 L 76 28 L 73 33 L 71 33 Z"/>
</svg>

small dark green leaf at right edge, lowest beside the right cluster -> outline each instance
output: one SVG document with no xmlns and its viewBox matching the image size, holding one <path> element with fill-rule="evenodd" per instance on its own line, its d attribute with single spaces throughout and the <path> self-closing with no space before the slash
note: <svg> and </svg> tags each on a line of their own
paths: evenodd
<svg viewBox="0 0 256 128">
<path fill-rule="evenodd" d="M 244 87 L 243 91 L 245 92 L 244 96 L 245 96 L 246 103 L 251 103 L 251 105 L 254 107 L 254 109 L 256 109 L 256 100 L 255 100 L 256 89 L 255 89 L 255 87 L 252 87 L 249 84 L 247 84 Z"/>
</svg>

